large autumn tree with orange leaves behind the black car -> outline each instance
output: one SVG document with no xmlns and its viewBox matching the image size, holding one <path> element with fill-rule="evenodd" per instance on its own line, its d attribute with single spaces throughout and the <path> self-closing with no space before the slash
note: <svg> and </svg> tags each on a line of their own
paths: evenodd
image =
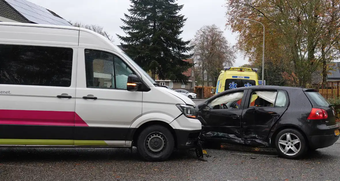
<svg viewBox="0 0 340 181">
<path fill-rule="evenodd" d="M 263 23 L 266 82 L 306 86 L 313 72 L 323 69 L 326 76 L 327 64 L 339 58 L 339 6 L 339 0 L 228 0 L 226 25 L 239 32 L 238 48 L 260 67 L 262 27 L 238 19 Z"/>
</svg>

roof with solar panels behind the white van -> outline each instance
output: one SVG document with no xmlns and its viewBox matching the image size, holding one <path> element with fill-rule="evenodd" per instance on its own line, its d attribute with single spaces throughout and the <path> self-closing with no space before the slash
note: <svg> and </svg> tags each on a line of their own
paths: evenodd
<svg viewBox="0 0 340 181">
<path fill-rule="evenodd" d="M 0 0 L 0 21 L 72 26 L 53 11 L 26 0 Z"/>
</svg>

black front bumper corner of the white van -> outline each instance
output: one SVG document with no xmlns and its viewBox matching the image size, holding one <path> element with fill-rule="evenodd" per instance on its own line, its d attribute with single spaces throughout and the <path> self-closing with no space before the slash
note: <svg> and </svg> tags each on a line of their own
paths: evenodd
<svg viewBox="0 0 340 181">
<path fill-rule="evenodd" d="M 177 138 L 176 148 L 188 149 L 197 146 L 198 137 L 200 136 L 201 130 L 184 130 L 175 129 Z"/>
</svg>

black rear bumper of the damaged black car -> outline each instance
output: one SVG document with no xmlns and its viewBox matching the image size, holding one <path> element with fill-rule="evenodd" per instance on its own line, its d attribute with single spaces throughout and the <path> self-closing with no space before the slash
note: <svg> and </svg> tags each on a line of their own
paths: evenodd
<svg viewBox="0 0 340 181">
<path fill-rule="evenodd" d="M 340 136 L 324 135 L 324 136 L 307 136 L 309 146 L 312 149 L 325 148 L 333 145 L 338 141 Z"/>
</svg>

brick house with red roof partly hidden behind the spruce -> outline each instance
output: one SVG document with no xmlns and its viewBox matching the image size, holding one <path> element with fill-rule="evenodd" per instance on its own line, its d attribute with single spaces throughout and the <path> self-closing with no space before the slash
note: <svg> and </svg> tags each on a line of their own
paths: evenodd
<svg viewBox="0 0 340 181">
<path fill-rule="evenodd" d="M 193 59 L 187 59 L 187 60 L 184 60 L 184 61 L 188 61 L 190 63 L 193 63 Z M 159 80 L 157 78 L 156 78 L 155 81 L 159 85 L 167 85 L 167 86 L 171 87 L 174 90 L 175 89 L 184 89 L 184 90 L 188 90 L 189 92 L 193 93 L 195 85 L 196 85 L 195 75 L 194 75 L 194 66 L 189 68 L 183 74 L 185 76 L 188 76 L 188 77 L 190 76 L 189 81 L 187 82 L 187 85 L 182 85 L 181 83 L 172 82 L 171 80 Z"/>
</svg>

